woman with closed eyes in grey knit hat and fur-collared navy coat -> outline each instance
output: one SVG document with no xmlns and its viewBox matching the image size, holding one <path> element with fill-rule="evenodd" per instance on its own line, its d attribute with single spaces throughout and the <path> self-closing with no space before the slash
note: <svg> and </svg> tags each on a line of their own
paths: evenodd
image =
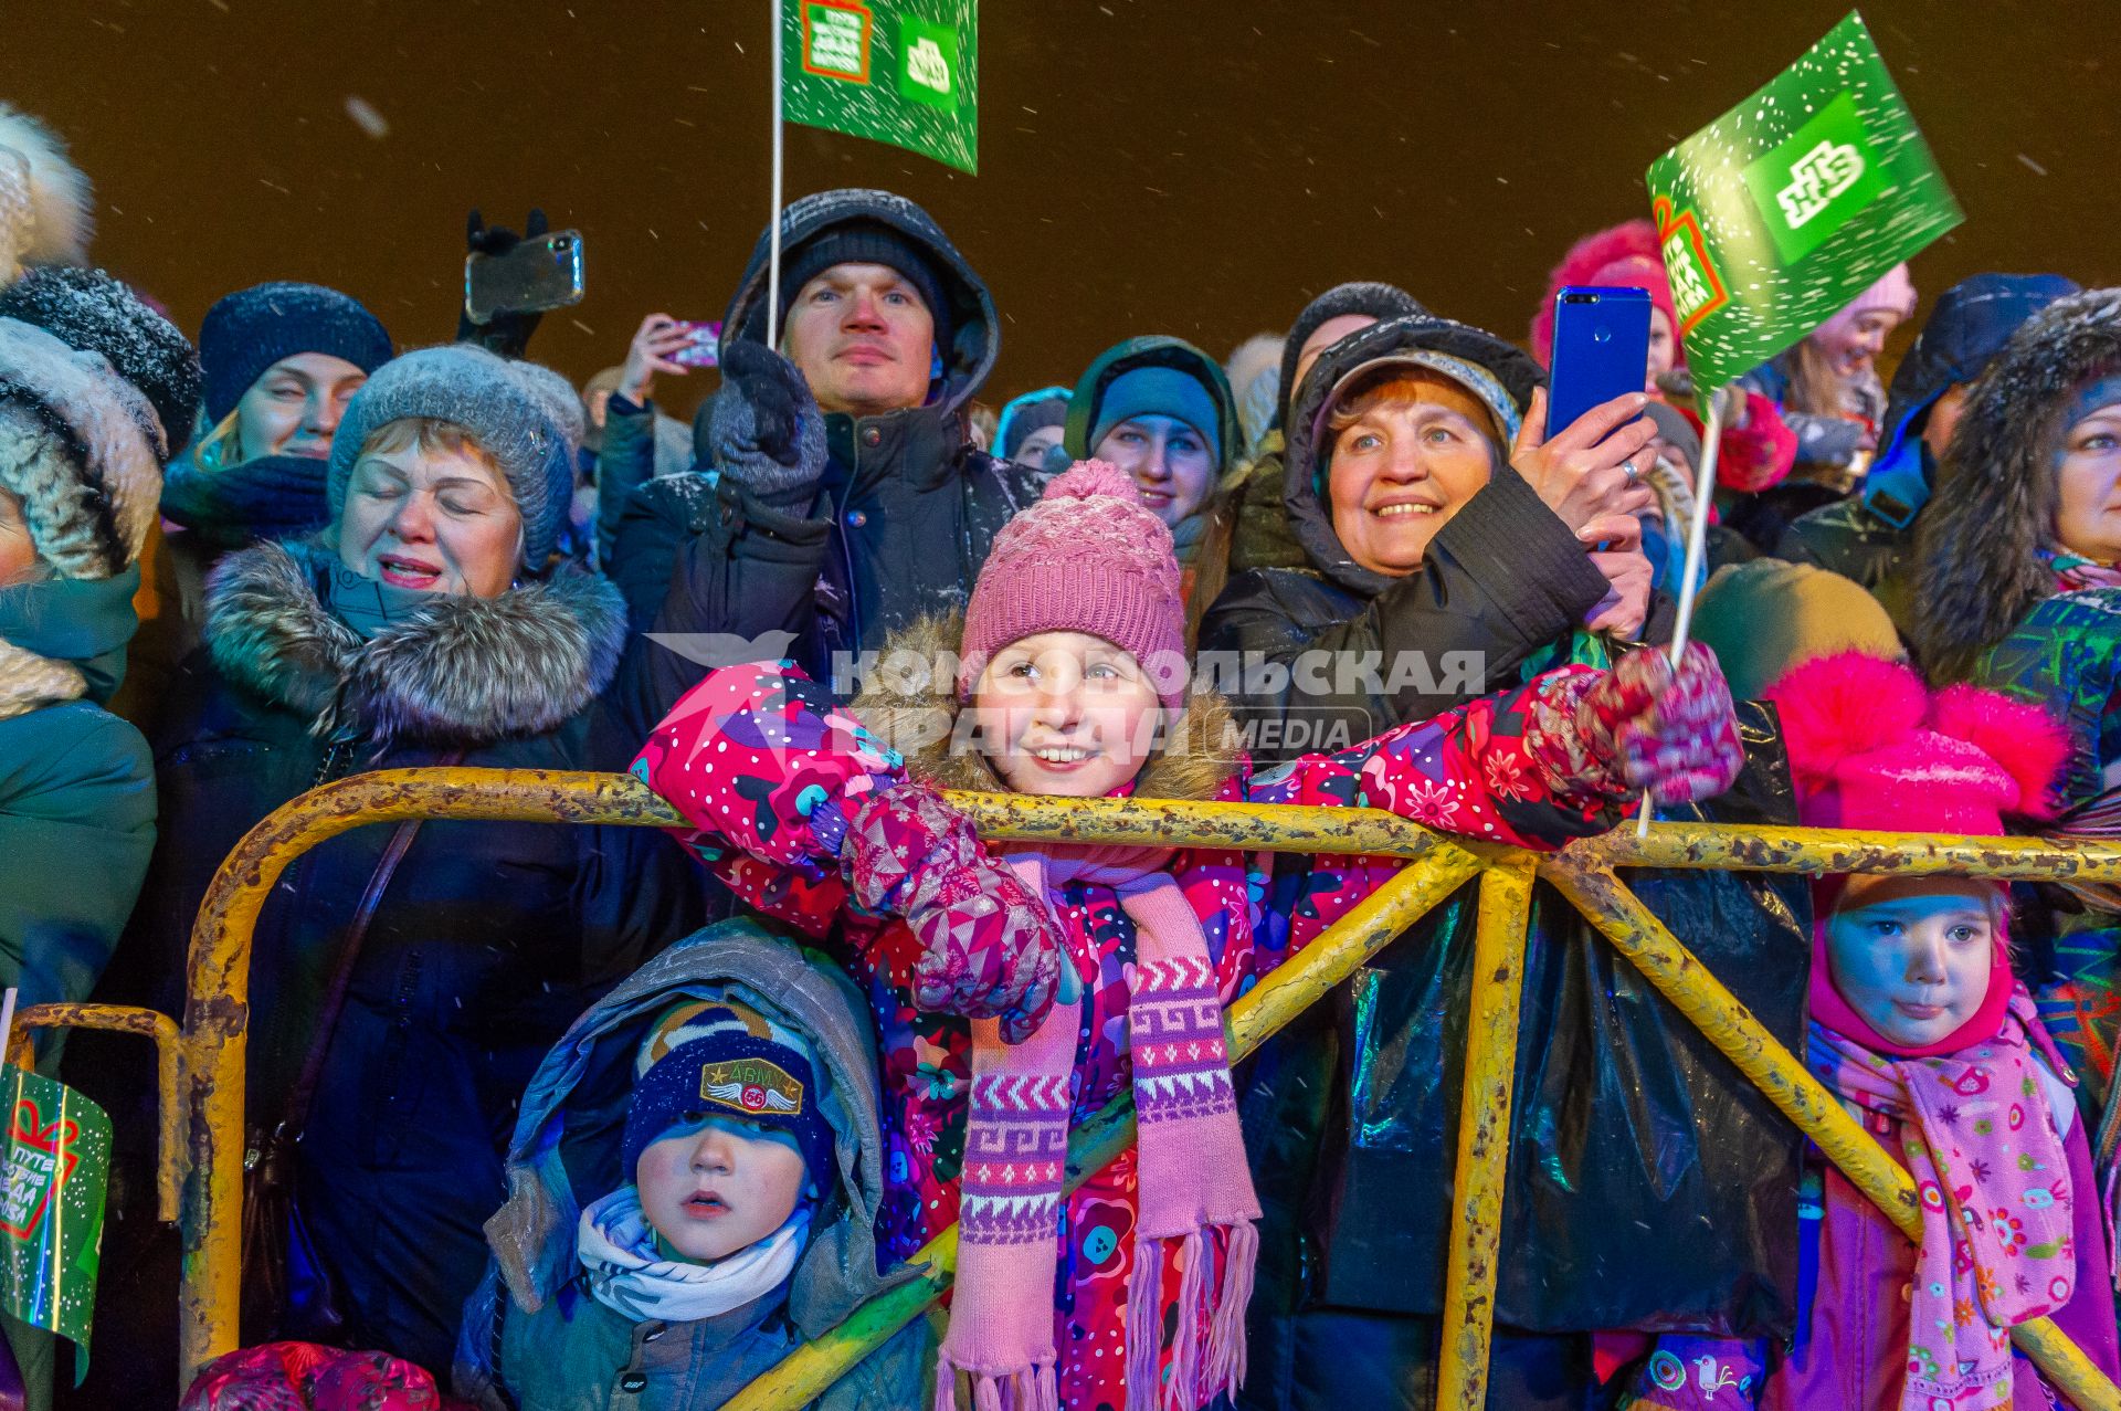
<svg viewBox="0 0 2121 1411">
<path fill-rule="evenodd" d="M 329 528 L 221 560 L 206 645 L 157 734 L 165 844 L 127 938 L 134 997 L 182 1012 L 208 881 L 305 789 L 369 768 L 604 762 L 596 700 L 626 609 L 600 577 L 547 569 L 571 454 L 513 365 L 467 346 L 409 352 L 337 424 Z M 428 823 L 320 1035 L 348 917 L 390 840 L 367 828 L 314 849 L 265 906 L 248 1101 L 252 1122 L 284 1120 L 305 1055 L 327 1044 L 295 1188 L 344 1290 L 341 1337 L 448 1373 L 486 1267 L 479 1226 L 507 1195 L 515 1099 L 604 985 L 698 923 L 698 887 L 643 830 Z"/>
</svg>

